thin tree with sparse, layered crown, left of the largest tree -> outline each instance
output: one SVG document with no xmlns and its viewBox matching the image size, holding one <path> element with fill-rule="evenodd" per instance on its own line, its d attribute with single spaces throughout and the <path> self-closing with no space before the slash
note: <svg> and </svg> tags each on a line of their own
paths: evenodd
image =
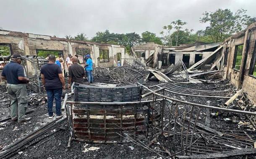
<svg viewBox="0 0 256 159">
<path fill-rule="evenodd" d="M 184 38 L 182 34 L 189 34 L 188 29 L 183 30 L 183 26 L 187 24 L 181 20 L 172 21 L 169 25 L 163 26 L 164 31 L 161 31 L 162 39 L 165 41 L 165 44 L 169 46 L 178 46 Z"/>
</svg>

